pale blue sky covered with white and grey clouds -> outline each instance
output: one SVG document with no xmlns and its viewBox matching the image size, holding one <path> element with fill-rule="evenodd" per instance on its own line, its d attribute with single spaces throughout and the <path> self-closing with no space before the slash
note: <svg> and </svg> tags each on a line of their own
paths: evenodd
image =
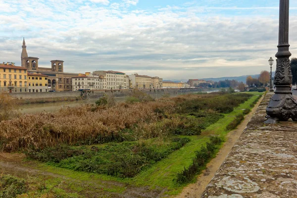
<svg viewBox="0 0 297 198">
<path fill-rule="evenodd" d="M 0 62 L 20 65 L 25 37 L 39 66 L 61 59 L 65 72 L 258 74 L 277 52 L 278 6 L 279 0 L 0 0 Z M 290 2 L 290 45 L 297 57 L 297 0 Z"/>
</svg>

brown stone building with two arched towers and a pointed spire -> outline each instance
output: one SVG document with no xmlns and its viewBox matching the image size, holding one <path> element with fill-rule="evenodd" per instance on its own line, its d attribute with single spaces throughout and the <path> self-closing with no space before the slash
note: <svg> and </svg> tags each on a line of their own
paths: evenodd
<svg viewBox="0 0 297 198">
<path fill-rule="evenodd" d="M 72 91 L 72 77 L 76 73 L 64 72 L 63 60 L 51 60 L 51 67 L 39 67 L 38 57 L 28 56 L 25 39 L 23 40 L 21 65 L 30 73 L 43 74 L 48 76 L 48 89 L 52 91 Z M 48 90 L 48 91 L 49 91 Z"/>
</svg>

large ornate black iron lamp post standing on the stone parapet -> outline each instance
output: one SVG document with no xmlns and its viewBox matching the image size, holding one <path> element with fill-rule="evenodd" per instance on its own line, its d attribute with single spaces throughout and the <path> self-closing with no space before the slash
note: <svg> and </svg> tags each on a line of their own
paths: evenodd
<svg viewBox="0 0 297 198">
<path fill-rule="evenodd" d="M 276 71 L 274 85 L 275 95 L 270 99 L 266 108 L 268 120 L 266 123 L 275 123 L 277 120 L 287 121 L 292 118 L 297 121 L 297 101 L 291 95 L 292 72 L 289 57 L 289 0 L 280 0 L 279 45 L 276 53 Z"/>
</svg>

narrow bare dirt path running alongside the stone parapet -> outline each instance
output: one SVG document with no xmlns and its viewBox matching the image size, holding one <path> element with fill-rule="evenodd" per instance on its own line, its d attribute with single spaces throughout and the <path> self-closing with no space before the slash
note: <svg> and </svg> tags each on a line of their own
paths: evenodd
<svg viewBox="0 0 297 198">
<path fill-rule="evenodd" d="M 245 116 L 244 121 L 238 126 L 238 128 L 234 131 L 231 131 L 227 135 L 227 141 L 223 145 L 223 147 L 218 152 L 217 156 L 213 158 L 206 166 L 206 169 L 202 171 L 202 173 L 198 176 L 197 182 L 195 184 L 190 184 L 184 188 L 183 192 L 176 196 L 176 198 L 200 198 L 202 193 L 204 192 L 206 186 L 214 177 L 214 174 L 219 169 L 221 164 L 223 163 L 226 156 L 229 154 L 236 141 L 239 139 L 245 128 L 247 127 L 247 123 L 251 119 L 255 110 L 258 108 L 264 96 L 256 103 L 254 108 L 251 110 L 249 114 Z"/>
</svg>

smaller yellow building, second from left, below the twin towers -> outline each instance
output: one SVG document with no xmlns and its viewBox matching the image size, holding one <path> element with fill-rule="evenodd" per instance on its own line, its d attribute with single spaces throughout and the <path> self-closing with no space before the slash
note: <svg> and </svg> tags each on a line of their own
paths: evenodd
<svg viewBox="0 0 297 198">
<path fill-rule="evenodd" d="M 28 72 L 28 92 L 48 92 L 47 75 Z"/>
</svg>

